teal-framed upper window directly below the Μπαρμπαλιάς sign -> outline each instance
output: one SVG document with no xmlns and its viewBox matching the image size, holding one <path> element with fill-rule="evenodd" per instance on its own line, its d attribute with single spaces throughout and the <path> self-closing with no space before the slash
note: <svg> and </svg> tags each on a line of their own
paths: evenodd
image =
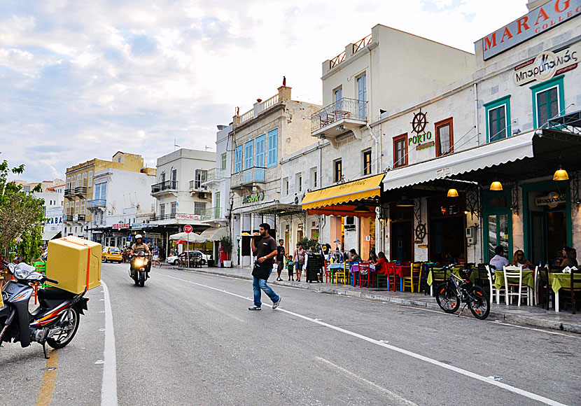
<svg viewBox="0 0 581 406">
<path fill-rule="evenodd" d="M 547 121 L 560 116 L 565 104 L 563 75 L 531 86 L 531 90 L 533 91 L 534 127 L 547 127 Z"/>
</svg>

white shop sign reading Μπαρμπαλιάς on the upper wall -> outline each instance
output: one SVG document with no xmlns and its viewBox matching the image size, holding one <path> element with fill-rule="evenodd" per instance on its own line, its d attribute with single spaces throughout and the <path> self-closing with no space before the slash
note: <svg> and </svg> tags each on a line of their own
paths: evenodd
<svg viewBox="0 0 581 406">
<path fill-rule="evenodd" d="M 556 75 L 572 71 L 577 67 L 581 56 L 581 45 L 575 45 L 560 50 L 559 52 L 542 52 L 538 57 L 528 59 L 528 61 L 514 67 L 514 84 L 517 86 L 526 85 L 534 80 L 542 82 L 549 80 Z"/>
</svg>

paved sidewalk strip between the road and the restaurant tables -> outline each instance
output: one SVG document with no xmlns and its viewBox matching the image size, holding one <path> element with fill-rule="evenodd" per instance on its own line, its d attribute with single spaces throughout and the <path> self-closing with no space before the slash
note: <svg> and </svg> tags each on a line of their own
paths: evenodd
<svg viewBox="0 0 581 406">
<path fill-rule="evenodd" d="M 167 269 L 167 267 L 164 268 Z M 252 280 L 251 269 L 247 268 L 171 268 L 189 272 L 199 272 L 202 274 L 221 275 L 238 279 Z M 345 295 L 366 300 L 374 300 L 377 302 L 389 302 L 403 306 L 423 307 L 425 309 L 442 311 L 437 305 L 435 297 L 424 295 L 423 293 L 393 291 L 388 292 L 385 288 L 353 288 L 353 286 L 350 285 L 335 283 L 331 284 L 286 281 L 286 278 L 288 277 L 286 271 L 283 272 L 281 276 L 284 276 L 284 280 L 277 282 L 274 280 L 276 279 L 276 274 L 273 272 L 269 278 L 268 283 L 272 285 L 292 286 L 293 288 L 314 290 L 316 292 L 330 293 L 332 295 Z M 463 314 L 469 314 L 472 316 L 468 309 L 465 309 Z M 561 311 L 556 313 L 554 310 L 545 310 L 536 306 L 517 307 L 516 305 L 506 306 L 505 304 L 492 304 L 488 320 L 506 321 L 508 323 L 532 325 L 535 327 L 581 333 L 581 314 L 571 314 L 569 311 Z"/>
</svg>

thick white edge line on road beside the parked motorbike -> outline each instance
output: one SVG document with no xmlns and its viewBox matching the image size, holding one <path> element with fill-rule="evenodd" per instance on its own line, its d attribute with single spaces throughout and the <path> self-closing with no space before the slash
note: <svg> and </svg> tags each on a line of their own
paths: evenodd
<svg viewBox="0 0 581 406">
<path fill-rule="evenodd" d="M 103 351 L 103 383 L 101 386 L 101 406 L 117 406 L 117 358 L 115 353 L 115 332 L 113 331 L 113 311 L 109 289 L 101 281 L 105 295 L 105 349 Z"/>
</svg>

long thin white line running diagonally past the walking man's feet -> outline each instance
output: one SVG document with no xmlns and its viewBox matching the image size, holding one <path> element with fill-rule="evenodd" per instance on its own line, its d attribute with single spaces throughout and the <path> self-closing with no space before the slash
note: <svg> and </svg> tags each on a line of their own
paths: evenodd
<svg viewBox="0 0 581 406">
<path fill-rule="evenodd" d="M 251 300 L 251 299 L 248 299 L 248 297 L 238 295 L 237 293 L 232 293 L 232 292 L 228 292 L 228 290 L 214 288 L 213 286 L 202 285 L 202 283 L 196 283 L 193 281 L 188 281 L 187 279 L 176 278 L 175 276 L 169 276 L 169 275 L 164 275 L 164 274 L 158 274 L 158 275 L 165 276 L 165 277 L 171 278 L 171 279 L 176 279 L 177 281 L 191 283 L 191 284 L 196 285 L 196 286 L 201 286 L 202 288 L 209 288 L 211 290 L 216 290 L 218 292 L 226 293 L 227 295 L 239 297 L 239 298 L 244 299 L 244 300 Z M 272 307 L 270 304 L 266 304 L 266 303 L 263 303 L 262 305 L 267 306 L 267 307 Z M 414 353 L 412 351 L 408 351 L 407 349 L 401 349 L 397 346 L 393 346 L 391 344 L 386 344 L 385 342 L 381 342 L 377 339 L 373 339 L 371 337 L 361 335 L 357 332 L 345 330 L 344 328 L 340 328 L 340 327 L 337 327 L 336 325 L 325 323 L 324 321 L 316 321 L 314 318 L 311 318 L 309 316 L 303 316 L 302 314 L 295 313 L 294 311 L 288 311 L 286 309 L 281 309 L 281 307 L 279 307 L 277 309 L 277 311 L 282 311 L 283 313 L 290 314 L 290 315 L 298 317 L 298 318 L 302 318 L 303 320 L 310 321 L 311 323 L 323 325 L 327 328 L 330 328 L 331 330 L 342 332 L 346 335 L 351 335 L 351 337 L 356 337 L 358 339 L 362 339 L 363 341 L 370 342 L 371 344 L 376 344 L 376 345 L 382 346 L 386 349 L 390 349 L 391 351 L 402 353 L 406 356 L 416 358 L 417 360 L 421 360 L 423 362 L 430 363 L 432 365 L 436 365 L 437 367 L 444 368 L 445 370 L 450 370 L 452 372 L 456 372 L 458 374 L 464 375 L 465 377 L 469 377 L 469 378 L 475 379 L 477 381 L 484 382 L 485 384 L 489 384 L 492 386 L 498 386 L 499 388 L 505 389 L 506 391 L 509 391 L 512 393 L 517 393 L 517 395 L 524 396 L 525 398 L 529 398 L 529 399 L 537 400 L 538 402 L 545 403 L 545 405 L 566 406 L 563 403 L 557 402 L 556 400 L 545 398 L 544 396 L 537 395 L 536 393 L 524 391 L 524 389 L 517 388 L 516 386 L 504 384 L 503 382 L 500 382 L 500 381 L 493 381 L 491 379 L 483 377 L 482 375 L 475 374 L 474 372 L 470 372 L 468 370 L 463 370 L 462 368 L 455 367 L 454 365 L 448 365 L 446 363 L 442 363 L 439 360 L 434 360 L 432 358 L 428 358 L 426 356 L 420 355 L 419 353 Z"/>
</svg>

